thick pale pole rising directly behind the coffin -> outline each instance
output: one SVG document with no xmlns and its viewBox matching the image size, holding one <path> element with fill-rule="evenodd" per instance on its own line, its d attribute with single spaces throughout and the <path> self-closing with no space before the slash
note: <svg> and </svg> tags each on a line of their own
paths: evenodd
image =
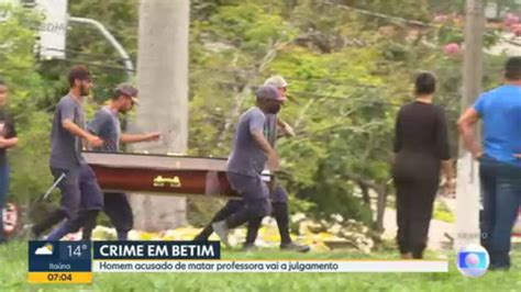
<svg viewBox="0 0 521 292">
<path fill-rule="evenodd" d="M 163 137 L 157 143 L 136 144 L 135 151 L 187 151 L 188 30 L 189 0 L 140 1 L 140 106 L 131 131 L 159 131 Z M 185 198 L 133 194 L 131 200 L 138 229 L 157 232 L 186 224 Z"/>
</svg>

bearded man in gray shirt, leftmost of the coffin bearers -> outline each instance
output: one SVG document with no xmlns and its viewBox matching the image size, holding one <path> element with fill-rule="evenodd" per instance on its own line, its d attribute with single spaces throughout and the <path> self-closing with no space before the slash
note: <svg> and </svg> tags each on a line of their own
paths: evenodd
<svg viewBox="0 0 521 292">
<path fill-rule="evenodd" d="M 49 166 L 55 180 L 62 178 L 58 183 L 62 191 L 60 207 L 32 227 L 33 236 L 38 237 L 67 218 L 47 237 L 48 240 L 59 239 L 63 235 L 77 231 L 82 222 L 96 220 L 103 205 L 96 176 L 81 156 L 81 139 L 92 146 L 101 146 L 103 143 L 84 130 L 81 102 L 92 87 L 90 72 L 85 66 L 74 66 L 68 80 L 70 90 L 56 105 L 51 133 Z M 78 213 L 80 207 L 84 212 Z"/>
</svg>

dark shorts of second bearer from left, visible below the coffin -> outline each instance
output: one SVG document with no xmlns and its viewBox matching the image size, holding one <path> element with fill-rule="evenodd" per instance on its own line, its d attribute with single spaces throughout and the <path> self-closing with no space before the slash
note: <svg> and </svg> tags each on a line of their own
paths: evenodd
<svg viewBox="0 0 521 292">
<path fill-rule="evenodd" d="M 134 226 L 134 216 L 126 193 L 104 193 L 103 211 L 117 231 L 129 232 Z"/>
</svg>

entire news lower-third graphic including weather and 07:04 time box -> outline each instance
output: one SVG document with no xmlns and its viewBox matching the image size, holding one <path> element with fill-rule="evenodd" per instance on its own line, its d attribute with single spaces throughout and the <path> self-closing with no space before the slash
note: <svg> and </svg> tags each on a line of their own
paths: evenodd
<svg viewBox="0 0 521 292">
<path fill-rule="evenodd" d="M 29 252 L 33 283 L 89 283 L 92 272 L 448 271 L 446 260 L 222 259 L 219 242 L 31 242 Z"/>
</svg>

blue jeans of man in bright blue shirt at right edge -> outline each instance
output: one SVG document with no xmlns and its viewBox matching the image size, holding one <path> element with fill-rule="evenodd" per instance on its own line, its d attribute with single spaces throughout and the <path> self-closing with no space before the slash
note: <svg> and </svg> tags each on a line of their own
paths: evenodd
<svg viewBox="0 0 521 292">
<path fill-rule="evenodd" d="M 489 156 L 479 162 L 481 245 L 490 255 L 491 268 L 509 268 L 511 233 L 521 204 L 521 167 Z"/>
</svg>

